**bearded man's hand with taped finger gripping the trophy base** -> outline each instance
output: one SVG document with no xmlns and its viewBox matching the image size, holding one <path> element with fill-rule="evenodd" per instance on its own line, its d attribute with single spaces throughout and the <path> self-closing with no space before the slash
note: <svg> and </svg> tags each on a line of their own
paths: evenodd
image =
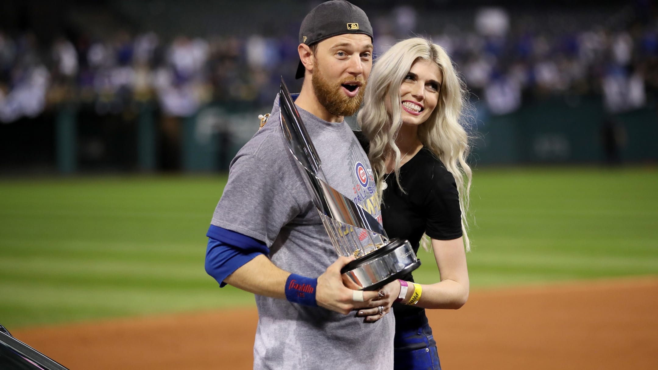
<svg viewBox="0 0 658 370">
<path fill-rule="evenodd" d="M 343 284 L 340 270 L 345 267 L 347 263 L 353 261 L 353 259 L 354 257 L 338 257 L 336 262 L 327 267 L 326 271 L 318 277 L 315 301 L 320 307 L 347 315 L 354 309 L 359 307 L 372 307 L 368 305 L 373 302 L 379 302 L 376 301 L 378 292 L 365 291 L 363 291 L 364 302 L 355 301 L 354 298 L 361 296 L 361 291 L 355 294 L 355 290 L 347 288 L 345 284 Z M 397 294 L 395 294 L 395 298 L 397 298 Z M 393 300 L 395 300 L 395 298 L 393 298 Z"/>
</svg>

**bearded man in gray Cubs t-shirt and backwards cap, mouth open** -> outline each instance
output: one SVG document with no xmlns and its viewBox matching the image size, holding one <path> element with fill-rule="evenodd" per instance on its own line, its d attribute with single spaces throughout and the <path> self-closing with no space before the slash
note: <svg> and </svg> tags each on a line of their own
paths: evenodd
<svg viewBox="0 0 658 370">
<path fill-rule="evenodd" d="M 301 24 L 298 52 L 304 82 L 295 105 L 326 180 L 381 219 L 372 188 L 359 186 L 355 172 L 370 169 L 367 155 L 343 120 L 361 105 L 372 67 L 366 14 L 347 1 L 318 5 Z M 255 369 L 392 369 L 393 315 L 374 323 L 347 315 L 384 303 L 378 292 L 343 285 L 340 269 L 351 259 L 336 260 L 288 150 L 278 97 L 233 159 L 207 236 L 207 273 L 256 294 Z"/>
</svg>

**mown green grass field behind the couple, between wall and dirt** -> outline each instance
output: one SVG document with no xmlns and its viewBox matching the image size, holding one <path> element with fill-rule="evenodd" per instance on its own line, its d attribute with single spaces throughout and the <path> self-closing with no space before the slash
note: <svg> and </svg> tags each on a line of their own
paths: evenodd
<svg viewBox="0 0 658 370">
<path fill-rule="evenodd" d="M 0 323 L 13 329 L 234 305 L 203 269 L 226 178 L 0 180 Z M 658 170 L 482 169 L 473 289 L 658 274 Z M 438 278 L 420 252 L 420 282 Z"/>
</svg>

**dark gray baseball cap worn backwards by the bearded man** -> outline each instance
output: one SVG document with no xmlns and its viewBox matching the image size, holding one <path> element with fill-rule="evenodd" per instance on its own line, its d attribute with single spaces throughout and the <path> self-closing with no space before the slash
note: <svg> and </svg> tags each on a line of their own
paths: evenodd
<svg viewBox="0 0 658 370">
<path fill-rule="evenodd" d="M 364 34 L 372 40 L 372 26 L 361 8 L 345 0 L 326 1 L 306 14 L 299 27 L 299 43 L 313 45 L 342 34 Z M 299 61 L 295 78 L 302 78 L 306 68 Z"/>
</svg>

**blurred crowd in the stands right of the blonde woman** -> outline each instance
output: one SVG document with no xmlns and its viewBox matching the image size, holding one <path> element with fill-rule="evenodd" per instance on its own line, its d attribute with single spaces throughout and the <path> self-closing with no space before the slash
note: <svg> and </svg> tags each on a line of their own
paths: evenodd
<svg viewBox="0 0 658 370">
<path fill-rule="evenodd" d="M 563 95 L 576 103 L 591 94 L 603 96 L 609 113 L 619 113 L 643 107 L 647 93 L 658 92 L 657 18 L 624 27 L 562 22 L 537 32 L 511 28 L 505 12 L 489 9 L 478 14 L 476 30 L 436 41 L 495 115 L 532 98 Z"/>
</svg>

